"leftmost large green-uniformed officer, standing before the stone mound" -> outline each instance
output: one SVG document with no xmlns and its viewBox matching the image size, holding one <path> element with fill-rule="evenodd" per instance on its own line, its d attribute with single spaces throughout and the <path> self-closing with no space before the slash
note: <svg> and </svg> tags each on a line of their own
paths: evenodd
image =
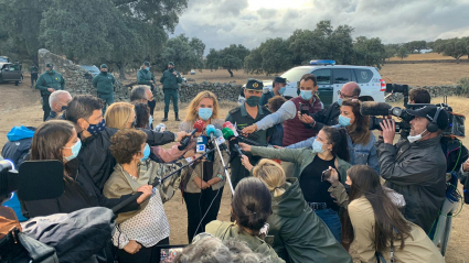
<svg viewBox="0 0 469 263">
<path fill-rule="evenodd" d="M 49 106 L 49 97 L 52 92 L 50 92 L 47 88 L 53 88 L 55 90 L 65 88 L 65 79 L 62 77 L 62 74 L 53 69 L 54 65 L 46 64 L 45 67 L 51 67 L 52 69 L 43 73 L 35 83 L 35 89 L 41 90 L 42 110 L 44 110 L 44 121 L 51 113 L 51 106 Z"/>
</svg>

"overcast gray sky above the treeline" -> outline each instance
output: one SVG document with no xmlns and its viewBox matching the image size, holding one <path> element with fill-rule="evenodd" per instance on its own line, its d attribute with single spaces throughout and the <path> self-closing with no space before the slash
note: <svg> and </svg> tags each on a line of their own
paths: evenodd
<svg viewBox="0 0 469 263">
<path fill-rule="evenodd" d="M 469 35 L 469 0 L 189 0 L 174 34 L 199 37 L 210 48 L 257 47 L 320 20 L 349 24 L 353 37 L 383 43 Z"/>
</svg>

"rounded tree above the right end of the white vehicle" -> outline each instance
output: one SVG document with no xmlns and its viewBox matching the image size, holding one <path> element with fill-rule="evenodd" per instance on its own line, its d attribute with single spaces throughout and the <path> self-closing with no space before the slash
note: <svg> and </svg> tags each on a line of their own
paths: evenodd
<svg viewBox="0 0 469 263">
<path fill-rule="evenodd" d="M 386 57 L 386 50 L 380 37 L 366 39 L 359 36 L 353 44 L 355 53 L 355 65 L 373 66 L 381 68 L 381 64 Z"/>
</svg>

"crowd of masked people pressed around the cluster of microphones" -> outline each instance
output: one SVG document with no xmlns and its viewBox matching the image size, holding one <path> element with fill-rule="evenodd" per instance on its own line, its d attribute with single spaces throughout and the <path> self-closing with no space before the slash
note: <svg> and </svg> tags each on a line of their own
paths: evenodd
<svg viewBox="0 0 469 263">
<path fill-rule="evenodd" d="M 141 193 L 116 211 L 109 237 L 115 251 L 107 261 L 115 254 L 119 262 L 158 262 L 158 246 L 168 245 L 170 235 L 163 204 L 181 190 L 192 244 L 174 262 L 352 262 L 353 241 L 361 262 L 444 262 L 431 239 L 440 234 L 440 210 L 451 198 L 440 146 L 447 112 L 434 106 L 408 110 L 411 135 L 394 145 L 394 121 L 381 123 L 377 140 L 369 129 L 358 84 L 343 85 L 339 100 L 326 109 L 315 75 L 301 78 L 299 96 L 290 100 L 281 97 L 284 84 L 276 78 L 267 96 L 260 81 L 248 80 L 246 102 L 225 120 L 216 96 L 202 91 L 177 133 L 152 123 L 148 102 L 154 99 L 147 87 L 134 88 L 131 102 L 110 103 L 104 116 L 96 97 L 52 92 L 52 120 L 13 129 L 2 156 L 17 164 L 62 162 L 65 190 L 55 199 L 21 201 L 21 216 L 115 208 Z M 411 101 L 427 99 L 418 92 Z M 202 131 L 194 129 L 198 121 Z M 198 139 L 211 140 L 207 125 L 231 134 L 224 138 L 230 153 L 213 151 L 192 164 L 202 157 Z M 19 131 L 24 135 L 13 136 Z M 152 186 L 171 172 L 169 180 Z M 469 164 L 456 172 L 467 179 Z M 222 222 L 216 219 L 226 182 L 234 189 L 232 221 Z"/>
</svg>

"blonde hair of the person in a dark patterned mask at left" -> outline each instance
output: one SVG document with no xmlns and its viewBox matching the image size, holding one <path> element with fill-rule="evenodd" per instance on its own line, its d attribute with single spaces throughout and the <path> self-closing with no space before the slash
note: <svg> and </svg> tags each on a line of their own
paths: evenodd
<svg viewBox="0 0 469 263">
<path fill-rule="evenodd" d="M 115 129 L 125 129 L 129 122 L 131 112 L 135 112 L 135 106 L 129 102 L 111 103 L 104 114 L 106 127 Z"/>
</svg>

